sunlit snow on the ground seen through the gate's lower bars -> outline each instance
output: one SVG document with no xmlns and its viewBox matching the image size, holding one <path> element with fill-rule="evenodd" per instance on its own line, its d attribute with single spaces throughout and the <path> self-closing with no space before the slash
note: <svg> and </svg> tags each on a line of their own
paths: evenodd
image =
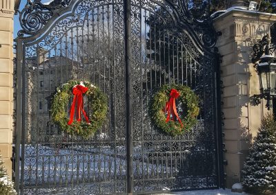
<svg viewBox="0 0 276 195">
<path fill-rule="evenodd" d="M 67 182 L 88 175 L 93 180 L 96 176 L 103 179 L 116 174 L 126 175 L 126 148 L 123 146 L 117 146 L 117 150 L 120 151 L 117 153 L 117 159 L 112 155 L 114 148 L 110 148 L 110 146 L 86 148 L 86 150 L 81 150 L 81 154 L 79 148 L 55 149 L 42 145 L 26 145 L 25 147 L 24 182 L 26 186 L 34 185 L 36 182 L 39 184 L 64 182 L 62 178 L 65 174 Z M 36 157 L 37 150 L 39 150 L 38 158 Z M 138 152 L 141 148 L 134 148 L 134 150 Z M 79 155 L 74 155 L 75 153 Z M 145 174 L 152 171 L 161 172 L 161 170 L 170 174 L 172 171 L 166 170 L 165 165 L 147 165 L 146 163 L 141 164 L 139 171 L 142 172 L 142 170 Z"/>
</svg>

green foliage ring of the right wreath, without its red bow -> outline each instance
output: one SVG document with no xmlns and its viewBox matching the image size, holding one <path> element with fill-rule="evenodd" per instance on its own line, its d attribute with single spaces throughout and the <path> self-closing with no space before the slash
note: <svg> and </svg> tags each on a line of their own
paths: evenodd
<svg viewBox="0 0 276 195">
<path fill-rule="evenodd" d="M 166 114 L 164 108 L 166 102 L 170 99 L 171 89 L 177 89 L 180 95 L 178 98 L 179 106 L 181 110 L 179 117 L 183 124 L 183 127 L 179 122 L 168 121 L 166 122 Z M 165 84 L 161 87 L 157 93 L 155 93 L 152 100 L 151 115 L 156 126 L 163 130 L 168 135 L 176 136 L 184 133 L 185 130 L 189 130 L 197 123 L 197 115 L 199 115 L 199 100 L 197 95 L 186 86 L 180 84 Z"/>
</svg>

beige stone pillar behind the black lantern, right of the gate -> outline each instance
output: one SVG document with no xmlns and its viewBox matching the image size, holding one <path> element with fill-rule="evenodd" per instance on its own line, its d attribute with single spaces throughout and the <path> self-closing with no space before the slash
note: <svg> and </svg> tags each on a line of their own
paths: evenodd
<svg viewBox="0 0 276 195">
<path fill-rule="evenodd" d="M 222 36 L 217 41 L 223 81 L 226 152 L 224 159 L 226 186 L 240 182 L 244 160 L 248 147 L 256 135 L 262 117 L 268 113 L 265 100 L 258 106 L 250 104 L 250 96 L 259 94 L 259 78 L 251 63 L 253 45 L 270 32 L 270 26 L 276 21 L 276 14 L 231 10 L 214 21 L 215 29 Z"/>
</svg>

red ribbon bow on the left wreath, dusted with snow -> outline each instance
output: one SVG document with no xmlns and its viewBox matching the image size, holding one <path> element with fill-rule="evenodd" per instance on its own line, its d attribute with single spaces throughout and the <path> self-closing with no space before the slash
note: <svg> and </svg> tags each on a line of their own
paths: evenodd
<svg viewBox="0 0 276 195">
<path fill-rule="evenodd" d="M 74 99 L 72 102 L 72 106 L 70 109 L 70 120 L 68 122 L 68 125 L 71 125 L 74 119 L 74 114 L 75 114 L 75 107 L 76 107 L 76 102 L 77 102 L 77 122 L 81 121 L 81 112 L 83 113 L 83 117 L 86 119 L 87 123 L 89 122 L 89 119 L 86 115 L 86 112 L 83 109 L 83 93 L 86 93 L 88 91 L 88 87 L 84 87 L 82 84 L 75 85 L 72 89 L 72 93 L 74 95 Z"/>
</svg>

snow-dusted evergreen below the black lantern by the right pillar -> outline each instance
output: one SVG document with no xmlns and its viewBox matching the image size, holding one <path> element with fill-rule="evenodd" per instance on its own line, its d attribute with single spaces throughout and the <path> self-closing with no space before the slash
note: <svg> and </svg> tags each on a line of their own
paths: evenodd
<svg viewBox="0 0 276 195">
<path fill-rule="evenodd" d="M 276 122 L 271 115 L 261 127 L 244 163 L 242 184 L 249 192 L 276 190 Z"/>
</svg>

